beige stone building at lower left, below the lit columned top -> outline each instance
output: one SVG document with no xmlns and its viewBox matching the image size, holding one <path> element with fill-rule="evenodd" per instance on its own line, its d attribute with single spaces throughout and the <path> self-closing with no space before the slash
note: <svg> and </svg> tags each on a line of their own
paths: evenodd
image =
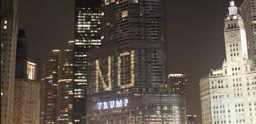
<svg viewBox="0 0 256 124">
<path fill-rule="evenodd" d="M 39 124 L 40 82 L 15 79 L 12 124 Z"/>
</svg>

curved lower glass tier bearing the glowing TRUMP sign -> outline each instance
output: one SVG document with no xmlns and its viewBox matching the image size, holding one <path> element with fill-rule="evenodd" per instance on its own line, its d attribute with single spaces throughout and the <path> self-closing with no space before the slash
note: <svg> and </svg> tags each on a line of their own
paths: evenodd
<svg viewBox="0 0 256 124">
<path fill-rule="evenodd" d="M 186 124 L 184 96 L 137 96 L 126 99 L 102 98 L 100 102 L 113 102 L 103 108 L 90 99 L 87 123 L 90 124 Z M 117 107 L 116 101 L 123 102 Z M 113 108 L 111 108 L 111 106 Z M 104 109 L 106 107 L 107 109 Z"/>
</svg>

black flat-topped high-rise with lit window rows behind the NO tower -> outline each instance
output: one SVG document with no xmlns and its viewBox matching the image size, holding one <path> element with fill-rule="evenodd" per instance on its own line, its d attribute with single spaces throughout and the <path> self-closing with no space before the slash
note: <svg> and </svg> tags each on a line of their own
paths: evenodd
<svg viewBox="0 0 256 124">
<path fill-rule="evenodd" d="M 75 0 L 75 123 L 85 122 L 87 51 L 101 45 L 100 17 L 100 0 Z"/>
</svg>

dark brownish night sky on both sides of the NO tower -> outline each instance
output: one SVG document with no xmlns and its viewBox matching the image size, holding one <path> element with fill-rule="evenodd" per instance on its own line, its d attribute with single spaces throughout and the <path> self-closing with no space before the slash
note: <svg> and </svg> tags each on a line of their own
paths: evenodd
<svg viewBox="0 0 256 124">
<path fill-rule="evenodd" d="M 199 79 L 225 59 L 224 17 L 229 0 L 166 0 L 168 72 L 189 78 L 187 113 L 201 122 Z M 240 5 L 242 0 L 235 0 Z M 32 59 L 51 56 L 74 40 L 75 0 L 19 0 L 19 28 L 26 30 Z"/>
</svg>

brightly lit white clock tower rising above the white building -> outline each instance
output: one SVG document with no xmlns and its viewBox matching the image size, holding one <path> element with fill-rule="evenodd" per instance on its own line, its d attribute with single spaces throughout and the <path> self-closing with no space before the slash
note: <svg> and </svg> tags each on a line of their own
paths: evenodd
<svg viewBox="0 0 256 124">
<path fill-rule="evenodd" d="M 233 0 L 230 1 L 229 13 L 225 18 L 225 46 L 226 46 L 226 68 L 227 75 L 239 75 L 245 70 L 244 60 L 248 60 L 246 33 L 244 22 L 237 14 L 237 7 Z M 226 65 L 226 67 L 225 67 Z"/>
</svg>

